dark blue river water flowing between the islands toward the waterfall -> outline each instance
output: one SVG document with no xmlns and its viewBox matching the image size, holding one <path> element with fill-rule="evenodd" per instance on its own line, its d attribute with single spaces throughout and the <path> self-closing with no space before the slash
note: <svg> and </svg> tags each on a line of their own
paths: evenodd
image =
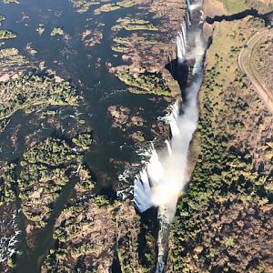
<svg viewBox="0 0 273 273">
<path fill-rule="evenodd" d="M 142 131 L 147 141 L 151 141 L 153 140 L 151 125 L 158 116 L 163 115 L 167 102 L 160 97 L 135 95 L 128 92 L 126 86 L 116 76 L 111 75 L 106 68 L 106 62 L 120 64 L 120 59 L 115 58 L 111 50 L 111 27 L 116 25 L 116 19 L 119 17 L 135 15 L 136 7 L 102 15 L 93 15 L 93 10 L 94 8 L 91 8 L 85 14 L 76 14 L 76 9 L 68 0 L 21 0 L 19 5 L 5 5 L 2 1 L 0 2 L 0 13 L 6 17 L 2 28 L 13 30 L 17 34 L 14 40 L 6 41 L 2 47 L 15 47 L 26 56 L 25 46 L 31 43 L 37 54 L 28 56 L 28 58 L 35 66 L 45 61 L 45 66 L 56 70 L 57 76 L 69 80 L 84 96 L 84 103 L 78 107 L 58 108 L 57 118 L 62 121 L 63 132 L 56 130 L 53 126 L 44 126 L 39 121 L 31 122 L 35 117 L 34 114 L 25 115 L 23 111 L 17 111 L 11 117 L 5 132 L 0 136 L 0 158 L 3 161 L 20 161 L 25 151 L 25 136 L 35 134 L 41 138 L 62 137 L 72 123 L 73 116 L 76 113 L 82 113 L 88 125 L 92 126 L 96 139 L 85 158 L 86 164 L 96 177 L 96 190 L 106 188 L 107 194 L 115 195 L 115 191 L 111 188 L 115 188 L 120 183 L 118 176 L 125 169 L 116 166 L 113 162 L 139 163 L 142 157 L 136 153 L 139 147 L 127 137 L 125 132 L 112 128 L 107 114 L 108 106 L 122 105 L 135 111 L 142 107 L 144 109 L 142 117 L 145 119 Z M 148 19 L 153 20 L 151 17 Z M 101 44 L 92 48 L 85 47 L 79 34 L 86 28 L 92 29 L 95 21 L 96 24 L 105 24 L 102 27 L 103 40 Z M 39 24 L 45 27 L 43 35 L 38 35 L 36 32 Z M 67 40 L 50 37 L 51 30 L 59 26 L 64 28 Z M 97 66 L 98 62 L 100 66 Z M 48 106 L 44 110 L 49 109 L 56 109 L 56 107 Z M 19 129 L 17 145 L 13 147 L 10 136 L 14 133 L 15 127 Z M 21 255 L 17 260 L 19 269 L 15 268 L 15 271 L 28 273 L 29 268 L 32 268 L 31 272 L 39 272 L 46 252 L 54 245 L 52 233 L 55 219 L 70 197 L 74 183 L 75 181 L 72 180 L 64 188 L 56 202 L 49 224 L 44 229 L 35 232 L 35 248 L 26 248 L 25 232 L 21 233 L 18 244 Z M 20 213 L 19 225 L 24 230 L 25 217 Z"/>
</svg>

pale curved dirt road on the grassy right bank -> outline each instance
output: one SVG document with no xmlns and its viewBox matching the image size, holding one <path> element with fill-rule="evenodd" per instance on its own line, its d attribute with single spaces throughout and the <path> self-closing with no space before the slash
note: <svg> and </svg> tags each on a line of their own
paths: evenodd
<svg viewBox="0 0 273 273">
<path fill-rule="evenodd" d="M 248 46 L 244 47 L 238 56 L 238 64 L 241 70 L 248 76 L 252 86 L 257 91 L 258 96 L 262 99 L 268 110 L 273 114 L 273 90 L 270 90 L 264 80 L 259 76 L 256 66 L 252 59 L 252 53 L 258 41 L 266 35 L 273 35 L 273 28 L 258 32 L 248 41 Z"/>
</svg>

